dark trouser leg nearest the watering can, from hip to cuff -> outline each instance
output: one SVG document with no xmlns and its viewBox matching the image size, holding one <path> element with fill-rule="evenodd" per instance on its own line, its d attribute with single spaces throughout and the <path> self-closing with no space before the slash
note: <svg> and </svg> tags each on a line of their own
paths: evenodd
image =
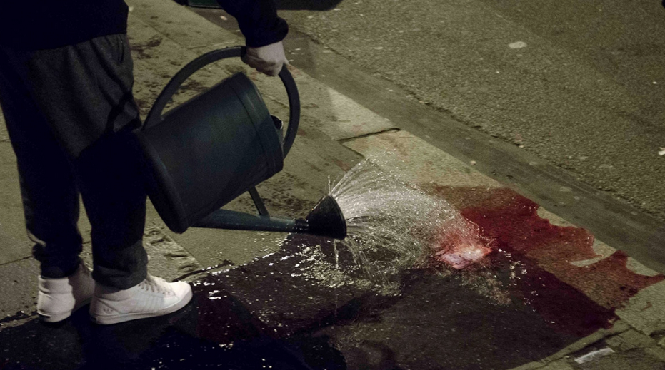
<svg viewBox="0 0 665 370">
<path fill-rule="evenodd" d="M 92 227 L 93 277 L 119 289 L 138 284 L 147 269 L 146 193 L 140 153 L 127 140 L 141 121 L 126 36 L 34 51 L 21 62 L 26 90 L 81 192 Z"/>
</svg>

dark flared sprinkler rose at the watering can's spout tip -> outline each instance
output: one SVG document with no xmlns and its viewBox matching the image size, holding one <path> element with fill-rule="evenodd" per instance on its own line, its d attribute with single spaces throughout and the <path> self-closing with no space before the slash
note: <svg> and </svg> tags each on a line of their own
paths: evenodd
<svg viewBox="0 0 665 370">
<path fill-rule="evenodd" d="M 346 220 L 336 200 L 326 195 L 319 200 L 305 217 L 309 223 L 309 233 L 334 237 L 342 240 L 346 237 Z"/>
</svg>

